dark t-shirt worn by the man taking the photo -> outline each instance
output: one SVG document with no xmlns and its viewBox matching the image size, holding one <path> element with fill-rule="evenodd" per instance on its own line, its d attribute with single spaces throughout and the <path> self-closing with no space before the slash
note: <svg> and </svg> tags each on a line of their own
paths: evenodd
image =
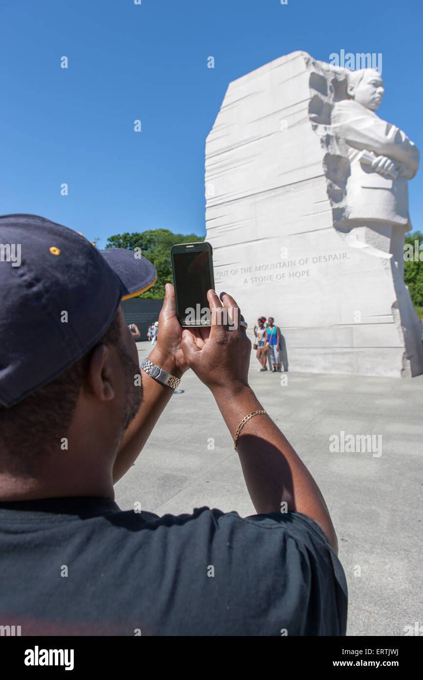
<svg viewBox="0 0 423 680">
<path fill-rule="evenodd" d="M 0 503 L 0 624 L 45 635 L 344 635 L 347 587 L 300 513 Z"/>
</svg>

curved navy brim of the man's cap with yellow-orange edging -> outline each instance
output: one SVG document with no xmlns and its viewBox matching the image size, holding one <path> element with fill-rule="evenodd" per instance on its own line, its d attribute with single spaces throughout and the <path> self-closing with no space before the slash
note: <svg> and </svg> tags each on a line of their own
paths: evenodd
<svg viewBox="0 0 423 680">
<path fill-rule="evenodd" d="M 139 295 L 155 284 L 157 272 L 150 260 L 125 248 L 100 250 L 122 288 L 122 300 Z"/>
</svg>

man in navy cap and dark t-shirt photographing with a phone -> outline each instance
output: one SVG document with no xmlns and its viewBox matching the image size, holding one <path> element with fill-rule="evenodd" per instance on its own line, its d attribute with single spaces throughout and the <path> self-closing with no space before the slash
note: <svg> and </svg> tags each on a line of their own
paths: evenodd
<svg viewBox="0 0 423 680">
<path fill-rule="evenodd" d="M 0 625 L 22 635 L 344 635 L 331 518 L 249 387 L 236 301 L 208 291 L 212 326 L 182 333 L 166 284 L 160 337 L 140 371 L 120 303 L 153 285 L 148 260 L 100 252 L 31 215 L 0 217 L 0 241 L 22 253 L 18 267 L 0 262 Z M 236 330 L 219 324 L 222 303 Z M 158 517 L 114 501 L 188 367 L 223 415 L 257 515 Z M 191 417 L 206 426 L 206 414 Z"/>
</svg>

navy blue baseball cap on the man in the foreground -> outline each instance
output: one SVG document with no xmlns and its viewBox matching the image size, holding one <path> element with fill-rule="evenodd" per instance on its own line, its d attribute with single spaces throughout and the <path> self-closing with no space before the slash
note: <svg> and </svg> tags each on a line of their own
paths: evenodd
<svg viewBox="0 0 423 680">
<path fill-rule="evenodd" d="M 132 250 L 98 250 L 36 215 L 0 216 L 0 404 L 50 383 L 100 340 L 122 300 L 153 286 Z"/>
</svg>

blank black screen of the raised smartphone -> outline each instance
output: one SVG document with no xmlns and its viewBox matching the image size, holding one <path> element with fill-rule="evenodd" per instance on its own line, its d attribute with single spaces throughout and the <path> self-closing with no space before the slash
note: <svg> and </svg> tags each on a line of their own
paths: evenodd
<svg viewBox="0 0 423 680">
<path fill-rule="evenodd" d="M 174 253 L 173 261 L 179 319 L 184 321 L 194 309 L 200 320 L 201 310 L 208 309 L 207 291 L 213 288 L 208 251 Z"/>
</svg>

